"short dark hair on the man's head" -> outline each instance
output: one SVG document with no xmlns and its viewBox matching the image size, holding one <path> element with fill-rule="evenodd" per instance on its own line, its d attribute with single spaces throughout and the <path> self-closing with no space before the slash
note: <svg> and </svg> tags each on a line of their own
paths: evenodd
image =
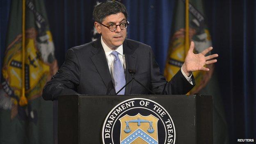
<svg viewBox="0 0 256 144">
<path fill-rule="evenodd" d="M 127 10 L 123 4 L 117 1 L 107 0 L 94 8 L 92 16 L 94 18 L 94 21 L 102 23 L 103 19 L 106 16 L 109 16 L 111 14 L 117 14 L 120 12 L 123 13 L 127 19 Z"/>
</svg>

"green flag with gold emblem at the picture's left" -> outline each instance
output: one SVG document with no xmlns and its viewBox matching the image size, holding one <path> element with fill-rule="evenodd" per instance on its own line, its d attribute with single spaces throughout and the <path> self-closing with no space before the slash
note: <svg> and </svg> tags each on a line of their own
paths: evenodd
<svg viewBox="0 0 256 144">
<path fill-rule="evenodd" d="M 43 0 L 25 2 L 25 97 L 22 89 L 22 0 L 12 0 L 2 64 L 0 144 L 52 144 L 53 103 L 42 89 L 57 71 Z"/>
</svg>

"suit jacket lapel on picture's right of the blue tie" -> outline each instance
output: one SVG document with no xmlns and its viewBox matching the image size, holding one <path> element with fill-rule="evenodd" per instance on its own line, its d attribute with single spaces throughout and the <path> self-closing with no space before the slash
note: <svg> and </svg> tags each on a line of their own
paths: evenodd
<svg viewBox="0 0 256 144">
<path fill-rule="evenodd" d="M 137 64 L 137 54 L 134 53 L 134 50 L 130 48 L 126 41 L 123 43 L 123 53 L 125 54 L 126 60 L 126 83 L 132 79 L 128 69 L 135 69 Z M 131 90 L 133 87 L 133 82 L 126 86 L 125 94 L 131 94 Z"/>
</svg>

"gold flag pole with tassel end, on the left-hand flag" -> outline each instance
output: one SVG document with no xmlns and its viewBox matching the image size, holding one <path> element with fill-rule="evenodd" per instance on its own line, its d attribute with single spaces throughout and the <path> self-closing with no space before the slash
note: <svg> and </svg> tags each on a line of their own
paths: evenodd
<svg viewBox="0 0 256 144">
<path fill-rule="evenodd" d="M 19 105 L 27 105 L 27 98 L 25 96 L 25 0 L 22 0 L 22 91 Z"/>
</svg>

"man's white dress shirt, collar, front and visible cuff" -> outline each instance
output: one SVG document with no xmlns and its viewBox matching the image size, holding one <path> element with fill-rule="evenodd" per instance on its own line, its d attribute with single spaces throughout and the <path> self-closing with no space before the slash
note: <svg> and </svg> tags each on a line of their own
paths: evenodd
<svg viewBox="0 0 256 144">
<path fill-rule="evenodd" d="M 107 64 L 108 64 L 108 68 L 112 77 L 112 80 L 114 80 L 114 55 L 111 55 L 111 53 L 113 51 L 117 51 L 118 52 L 118 57 L 123 65 L 123 69 L 124 71 L 126 70 L 126 63 L 125 63 L 125 55 L 123 54 L 123 45 L 119 46 L 116 50 L 112 50 L 110 49 L 103 41 L 102 36 L 101 36 L 101 45 L 105 51 L 105 55 L 107 58 Z M 192 83 L 192 75 L 190 75 L 189 77 L 187 77 L 187 75 L 185 74 L 185 72 L 183 71 L 182 67 L 181 67 L 181 73 L 184 75 L 184 77 L 186 78 L 186 80 L 193 85 Z M 125 74 L 125 73 L 124 73 Z"/>
</svg>

